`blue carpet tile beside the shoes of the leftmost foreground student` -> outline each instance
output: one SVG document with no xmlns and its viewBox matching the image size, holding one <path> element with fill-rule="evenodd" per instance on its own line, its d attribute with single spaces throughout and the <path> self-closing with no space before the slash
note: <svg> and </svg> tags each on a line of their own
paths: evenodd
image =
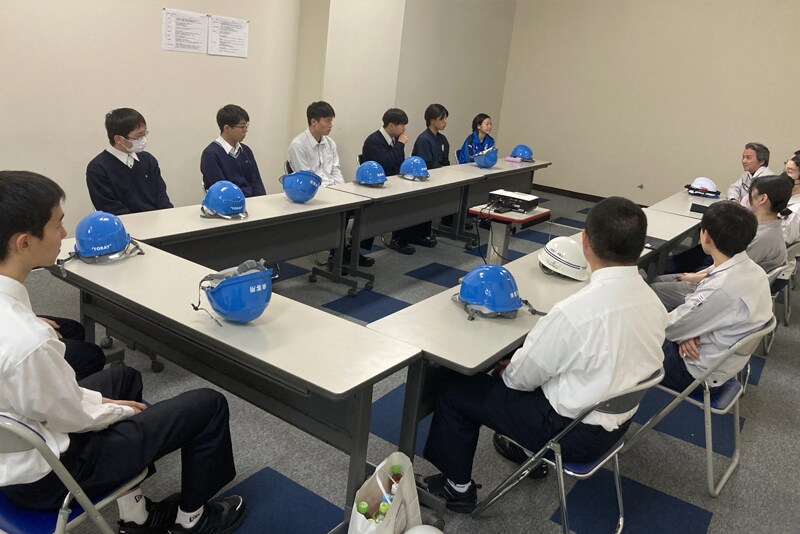
<svg viewBox="0 0 800 534">
<path fill-rule="evenodd" d="M 344 519 L 344 510 L 269 467 L 225 492 L 247 501 L 237 534 L 308 534 L 329 532 Z"/>
</svg>

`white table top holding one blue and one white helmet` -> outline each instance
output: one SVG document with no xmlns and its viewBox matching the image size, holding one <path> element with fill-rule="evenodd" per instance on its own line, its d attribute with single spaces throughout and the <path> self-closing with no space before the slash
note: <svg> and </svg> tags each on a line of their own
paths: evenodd
<svg viewBox="0 0 800 534">
<path fill-rule="evenodd" d="M 535 252 L 505 267 L 514 275 L 520 296 L 545 312 L 588 283 L 544 274 Z M 447 368 L 474 374 L 515 348 L 540 318 L 522 308 L 514 319 L 468 321 L 463 307 L 451 300 L 459 289 L 445 290 L 367 328 L 420 347 L 425 358 Z"/>
</svg>

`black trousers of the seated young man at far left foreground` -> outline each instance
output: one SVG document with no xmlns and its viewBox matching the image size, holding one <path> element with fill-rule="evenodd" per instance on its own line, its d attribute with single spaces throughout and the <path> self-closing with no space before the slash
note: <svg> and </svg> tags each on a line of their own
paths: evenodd
<svg viewBox="0 0 800 534">
<path fill-rule="evenodd" d="M 113 365 L 80 385 L 111 399 L 142 400 L 142 376 Z M 211 389 L 197 389 L 153 404 L 105 430 L 70 434 L 61 462 L 86 494 L 96 499 L 130 480 L 162 456 L 181 450 L 181 500 L 185 511 L 208 502 L 233 480 L 228 403 Z M 51 510 L 61 506 L 66 489 L 54 473 L 30 484 L 0 488 L 20 506 Z"/>
</svg>

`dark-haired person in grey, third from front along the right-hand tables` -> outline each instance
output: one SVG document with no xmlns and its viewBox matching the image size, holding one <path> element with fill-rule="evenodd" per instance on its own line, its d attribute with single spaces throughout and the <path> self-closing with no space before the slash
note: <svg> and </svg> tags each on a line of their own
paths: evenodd
<svg viewBox="0 0 800 534">
<path fill-rule="evenodd" d="M 792 181 L 783 175 L 759 176 L 750 186 L 750 211 L 756 216 L 758 229 L 747 245 L 746 252 L 766 273 L 786 265 L 783 222 L 778 214 L 785 212 L 791 192 Z M 651 287 L 667 311 L 672 311 L 697 289 L 697 284 L 708 275 L 710 269 L 706 267 L 697 272 L 659 276 Z"/>
</svg>

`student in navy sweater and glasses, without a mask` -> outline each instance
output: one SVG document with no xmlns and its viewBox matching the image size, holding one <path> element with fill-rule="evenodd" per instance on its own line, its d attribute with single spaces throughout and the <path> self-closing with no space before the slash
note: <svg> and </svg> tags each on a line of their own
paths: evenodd
<svg viewBox="0 0 800 534">
<path fill-rule="evenodd" d="M 203 188 L 227 180 L 242 190 L 246 197 L 266 195 L 256 158 L 250 147 L 243 144 L 250 126 L 250 115 L 234 104 L 217 111 L 219 137 L 203 150 L 200 156 L 200 172 Z"/>
</svg>

